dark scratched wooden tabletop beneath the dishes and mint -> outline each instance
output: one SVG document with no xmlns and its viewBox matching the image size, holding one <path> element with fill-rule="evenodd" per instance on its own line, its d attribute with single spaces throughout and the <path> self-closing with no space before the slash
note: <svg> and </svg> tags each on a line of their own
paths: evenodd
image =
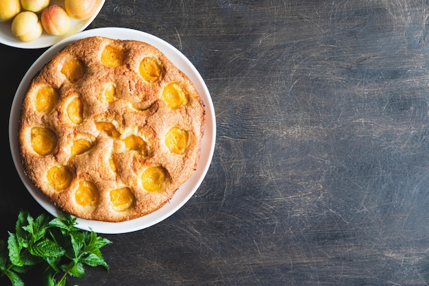
<svg viewBox="0 0 429 286">
<path fill-rule="evenodd" d="M 428 15 L 411 0 L 106 1 L 88 28 L 140 29 L 193 62 L 216 149 L 188 203 L 104 235 L 110 273 L 68 285 L 428 285 Z M 2 238 L 20 208 L 43 212 L 7 140 L 42 51 L 0 45 Z"/>
</svg>

